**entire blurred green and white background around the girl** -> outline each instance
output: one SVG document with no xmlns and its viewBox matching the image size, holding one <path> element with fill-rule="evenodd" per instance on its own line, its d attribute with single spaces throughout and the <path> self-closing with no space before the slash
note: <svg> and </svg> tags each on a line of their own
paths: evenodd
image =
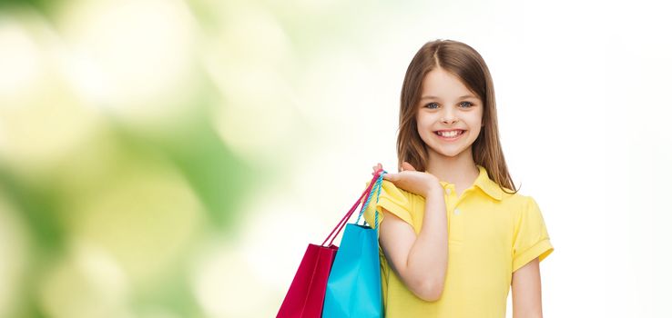
<svg viewBox="0 0 672 318">
<path fill-rule="evenodd" d="M 275 316 L 371 166 L 396 172 L 403 74 L 437 38 L 493 74 L 556 248 L 545 315 L 669 316 L 667 12 L 0 1 L 0 317 Z"/>
</svg>

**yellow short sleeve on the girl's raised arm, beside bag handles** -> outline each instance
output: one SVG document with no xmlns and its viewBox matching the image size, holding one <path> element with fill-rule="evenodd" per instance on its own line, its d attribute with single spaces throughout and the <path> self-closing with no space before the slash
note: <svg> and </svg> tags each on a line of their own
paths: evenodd
<svg viewBox="0 0 672 318">
<path fill-rule="evenodd" d="M 370 182 L 371 181 L 366 182 L 367 187 Z M 377 191 L 373 190 L 376 189 L 372 189 L 371 201 L 366 210 L 364 210 L 364 219 L 366 220 L 366 223 L 370 224 L 372 228 L 375 228 L 375 211 L 377 210 L 378 224 L 381 224 L 383 219 L 381 207 L 383 207 L 385 210 L 398 216 L 412 226 L 411 201 L 407 193 L 397 188 L 392 182 L 382 180 L 381 193 L 378 198 L 378 204 L 376 204 Z M 365 203 L 365 200 L 366 197 L 362 198 L 361 203 Z"/>
</svg>

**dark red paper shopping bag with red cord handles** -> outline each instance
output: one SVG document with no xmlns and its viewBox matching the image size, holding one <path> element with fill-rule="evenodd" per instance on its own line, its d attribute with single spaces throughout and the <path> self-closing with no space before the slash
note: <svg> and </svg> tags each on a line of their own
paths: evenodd
<svg viewBox="0 0 672 318">
<path fill-rule="evenodd" d="M 341 218 L 341 222 L 331 230 L 331 234 L 320 245 L 309 243 L 306 253 L 299 265 L 297 273 L 290 284 L 290 289 L 280 305 L 278 318 L 319 318 L 324 304 L 324 293 L 331 272 L 331 266 L 339 247 L 333 244 L 333 240 L 341 233 L 343 226 L 361 204 L 361 199 L 370 197 L 374 181 L 378 179 L 379 170 L 373 175 L 372 182 L 361 194 L 360 198 L 352 205 L 350 211 Z M 335 233 L 335 234 L 334 234 Z M 331 241 L 328 244 L 331 237 Z"/>
</svg>

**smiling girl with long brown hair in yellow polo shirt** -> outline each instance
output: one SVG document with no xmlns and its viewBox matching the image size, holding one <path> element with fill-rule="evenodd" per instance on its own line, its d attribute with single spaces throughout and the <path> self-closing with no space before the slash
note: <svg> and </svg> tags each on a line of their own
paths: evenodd
<svg viewBox="0 0 672 318">
<path fill-rule="evenodd" d="M 385 316 L 504 317 L 511 286 L 514 317 L 541 317 L 539 262 L 554 248 L 535 199 L 511 190 L 481 55 L 456 41 L 423 45 L 399 123 L 399 173 L 383 175 L 364 213 L 368 224 L 381 213 Z"/>
</svg>

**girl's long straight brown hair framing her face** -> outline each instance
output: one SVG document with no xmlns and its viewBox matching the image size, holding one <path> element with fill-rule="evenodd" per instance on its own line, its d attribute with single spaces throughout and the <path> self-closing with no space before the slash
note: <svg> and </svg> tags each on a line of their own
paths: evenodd
<svg viewBox="0 0 672 318">
<path fill-rule="evenodd" d="M 465 86 L 484 103 L 483 123 L 478 138 L 473 142 L 475 164 L 483 165 L 490 178 L 500 188 L 515 189 L 504 153 L 499 142 L 497 109 L 494 102 L 493 79 L 483 57 L 471 46 L 452 40 L 428 42 L 413 56 L 403 78 L 402 98 L 399 109 L 399 135 L 397 157 L 399 166 L 408 162 L 418 171 L 425 171 L 428 154 L 416 123 L 423 78 L 435 67 L 456 75 Z M 504 189 L 502 189 L 506 192 Z M 518 189 L 519 190 L 519 189 Z M 515 193 L 518 192 L 515 190 Z M 510 193 L 511 194 L 511 193 Z"/>
</svg>

